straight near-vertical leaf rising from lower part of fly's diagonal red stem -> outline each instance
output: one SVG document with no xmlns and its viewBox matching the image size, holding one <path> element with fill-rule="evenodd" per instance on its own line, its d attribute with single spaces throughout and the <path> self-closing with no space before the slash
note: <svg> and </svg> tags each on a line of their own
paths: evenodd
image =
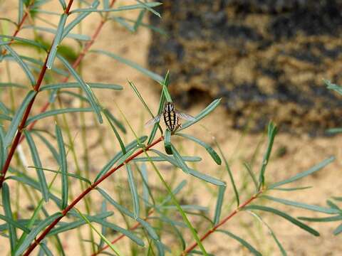
<svg viewBox="0 0 342 256">
<path fill-rule="evenodd" d="M 64 141 L 63 141 L 63 135 L 61 128 L 58 127 L 58 125 L 55 125 L 56 129 L 56 138 L 58 143 L 58 150 L 59 150 L 59 156 L 60 156 L 60 165 L 61 165 L 61 172 L 62 172 L 62 183 L 61 183 L 61 191 L 62 191 L 62 208 L 66 208 L 68 206 L 68 164 L 66 161 L 66 149 L 64 148 Z"/>
</svg>

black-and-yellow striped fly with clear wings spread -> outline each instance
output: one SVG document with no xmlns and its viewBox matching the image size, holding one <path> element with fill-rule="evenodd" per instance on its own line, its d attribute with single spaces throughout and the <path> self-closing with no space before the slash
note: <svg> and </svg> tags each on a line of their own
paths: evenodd
<svg viewBox="0 0 342 256">
<path fill-rule="evenodd" d="M 165 102 L 162 112 L 156 117 L 150 119 L 150 121 L 148 121 L 145 125 L 149 126 L 151 124 L 159 122 L 160 117 L 164 118 L 165 125 L 171 132 L 175 132 L 179 127 L 182 127 L 180 118 L 187 119 L 189 121 L 195 120 L 195 117 L 192 117 L 190 114 L 178 112 L 172 102 Z"/>
</svg>

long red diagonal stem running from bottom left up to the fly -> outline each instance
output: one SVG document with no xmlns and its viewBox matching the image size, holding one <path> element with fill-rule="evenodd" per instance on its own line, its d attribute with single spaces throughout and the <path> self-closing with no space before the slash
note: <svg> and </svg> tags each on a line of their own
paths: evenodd
<svg viewBox="0 0 342 256">
<path fill-rule="evenodd" d="M 88 187 L 85 191 L 83 191 L 77 198 L 75 198 L 71 202 L 70 205 L 68 205 L 64 210 L 62 210 L 62 212 L 61 212 L 62 215 L 60 217 L 56 218 L 56 220 L 53 220 L 53 222 L 50 225 L 48 225 L 48 228 L 46 228 L 43 231 L 43 233 L 41 233 L 41 235 L 39 235 L 39 237 L 28 247 L 28 249 L 24 253 L 24 256 L 30 255 L 30 253 L 34 250 L 34 248 L 39 244 L 39 242 L 41 242 L 41 240 L 43 240 L 46 237 L 46 235 L 51 231 L 51 229 L 53 229 L 53 227 L 59 222 L 59 220 L 61 220 L 61 218 L 63 218 L 68 213 L 68 211 L 73 208 L 73 206 L 76 206 L 76 203 L 81 201 L 81 199 L 83 199 L 90 191 L 92 191 L 94 188 L 96 188 L 96 186 L 98 186 L 102 181 L 104 181 L 110 175 L 114 174 L 116 170 L 120 169 L 122 166 L 124 166 L 125 164 L 128 164 L 130 161 L 135 159 L 135 157 L 139 156 L 144 151 L 147 151 L 152 146 L 155 146 L 155 144 L 158 144 L 159 142 L 162 142 L 162 139 L 163 139 L 163 137 L 160 137 L 159 139 L 155 140 L 155 142 L 152 142 L 150 145 L 146 146 L 145 149 L 140 149 L 135 154 L 130 156 L 128 159 L 126 159 L 123 162 L 123 164 L 119 164 L 115 168 L 113 168 L 110 171 L 108 171 L 107 174 L 105 174 L 101 178 L 99 178 L 98 181 L 95 181 L 93 184 L 91 184 L 91 186 Z"/>
</svg>

